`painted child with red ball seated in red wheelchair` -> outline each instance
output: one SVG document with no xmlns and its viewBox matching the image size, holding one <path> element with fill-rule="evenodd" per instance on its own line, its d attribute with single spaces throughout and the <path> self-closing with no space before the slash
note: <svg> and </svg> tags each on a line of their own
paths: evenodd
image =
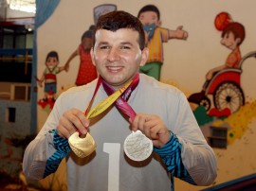
<svg viewBox="0 0 256 191">
<path fill-rule="evenodd" d="M 237 112 L 245 104 L 245 96 L 240 86 L 241 67 L 245 58 L 241 57 L 240 45 L 245 40 L 246 30 L 242 24 L 233 22 L 227 12 L 219 13 L 215 17 L 214 24 L 216 29 L 222 32 L 221 44 L 231 52 L 224 64 L 210 69 L 207 73 L 202 91 L 192 94 L 188 100 L 204 106 L 209 111 L 211 104 L 208 95 L 212 95 L 215 108 L 210 111 L 210 115 L 212 111 L 216 113 L 217 109 L 219 113 L 216 114 L 222 113 L 220 115 L 227 116 Z M 224 95 L 225 89 L 229 89 L 229 95 Z"/>
</svg>

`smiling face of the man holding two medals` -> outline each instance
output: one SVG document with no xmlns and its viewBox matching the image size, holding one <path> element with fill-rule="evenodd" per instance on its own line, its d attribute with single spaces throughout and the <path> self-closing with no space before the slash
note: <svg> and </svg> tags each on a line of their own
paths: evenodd
<svg viewBox="0 0 256 191">
<path fill-rule="evenodd" d="M 138 32 L 133 29 L 121 28 L 115 32 L 100 29 L 95 34 L 92 61 L 101 77 L 116 89 L 136 76 L 147 56 L 148 49 L 139 49 Z"/>
</svg>

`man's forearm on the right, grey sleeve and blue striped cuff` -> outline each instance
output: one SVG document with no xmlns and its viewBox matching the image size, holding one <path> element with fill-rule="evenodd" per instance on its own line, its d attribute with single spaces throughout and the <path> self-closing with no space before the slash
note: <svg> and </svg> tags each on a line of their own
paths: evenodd
<svg viewBox="0 0 256 191">
<path fill-rule="evenodd" d="M 209 185 L 216 178 L 216 159 L 208 145 L 181 144 L 172 135 L 164 147 L 154 149 L 174 177 L 196 185 Z"/>
</svg>

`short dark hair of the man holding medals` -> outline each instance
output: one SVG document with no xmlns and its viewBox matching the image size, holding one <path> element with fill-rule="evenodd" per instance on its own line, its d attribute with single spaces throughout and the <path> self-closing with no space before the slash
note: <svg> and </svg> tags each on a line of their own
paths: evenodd
<svg viewBox="0 0 256 191">
<path fill-rule="evenodd" d="M 117 31 L 120 28 L 131 28 L 138 32 L 139 39 L 139 48 L 141 50 L 145 47 L 145 33 L 142 24 L 137 19 L 137 17 L 132 14 L 125 12 L 123 10 L 112 11 L 106 14 L 101 15 L 99 18 L 94 34 L 99 29 L 106 29 L 110 31 Z M 94 35 L 94 44 L 95 44 L 95 35 Z"/>
</svg>

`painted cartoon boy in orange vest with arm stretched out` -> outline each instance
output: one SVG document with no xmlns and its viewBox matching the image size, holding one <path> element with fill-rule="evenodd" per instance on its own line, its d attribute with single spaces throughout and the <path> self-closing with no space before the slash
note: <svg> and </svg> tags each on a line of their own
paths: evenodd
<svg viewBox="0 0 256 191">
<path fill-rule="evenodd" d="M 137 18 L 144 27 L 146 43 L 150 52 L 148 61 L 140 67 L 140 72 L 159 80 L 163 64 L 162 43 L 167 43 L 170 39 L 186 40 L 188 32 L 182 29 L 183 26 L 178 26 L 175 30 L 160 27 L 160 11 L 155 5 L 141 8 L 137 13 Z"/>
</svg>

